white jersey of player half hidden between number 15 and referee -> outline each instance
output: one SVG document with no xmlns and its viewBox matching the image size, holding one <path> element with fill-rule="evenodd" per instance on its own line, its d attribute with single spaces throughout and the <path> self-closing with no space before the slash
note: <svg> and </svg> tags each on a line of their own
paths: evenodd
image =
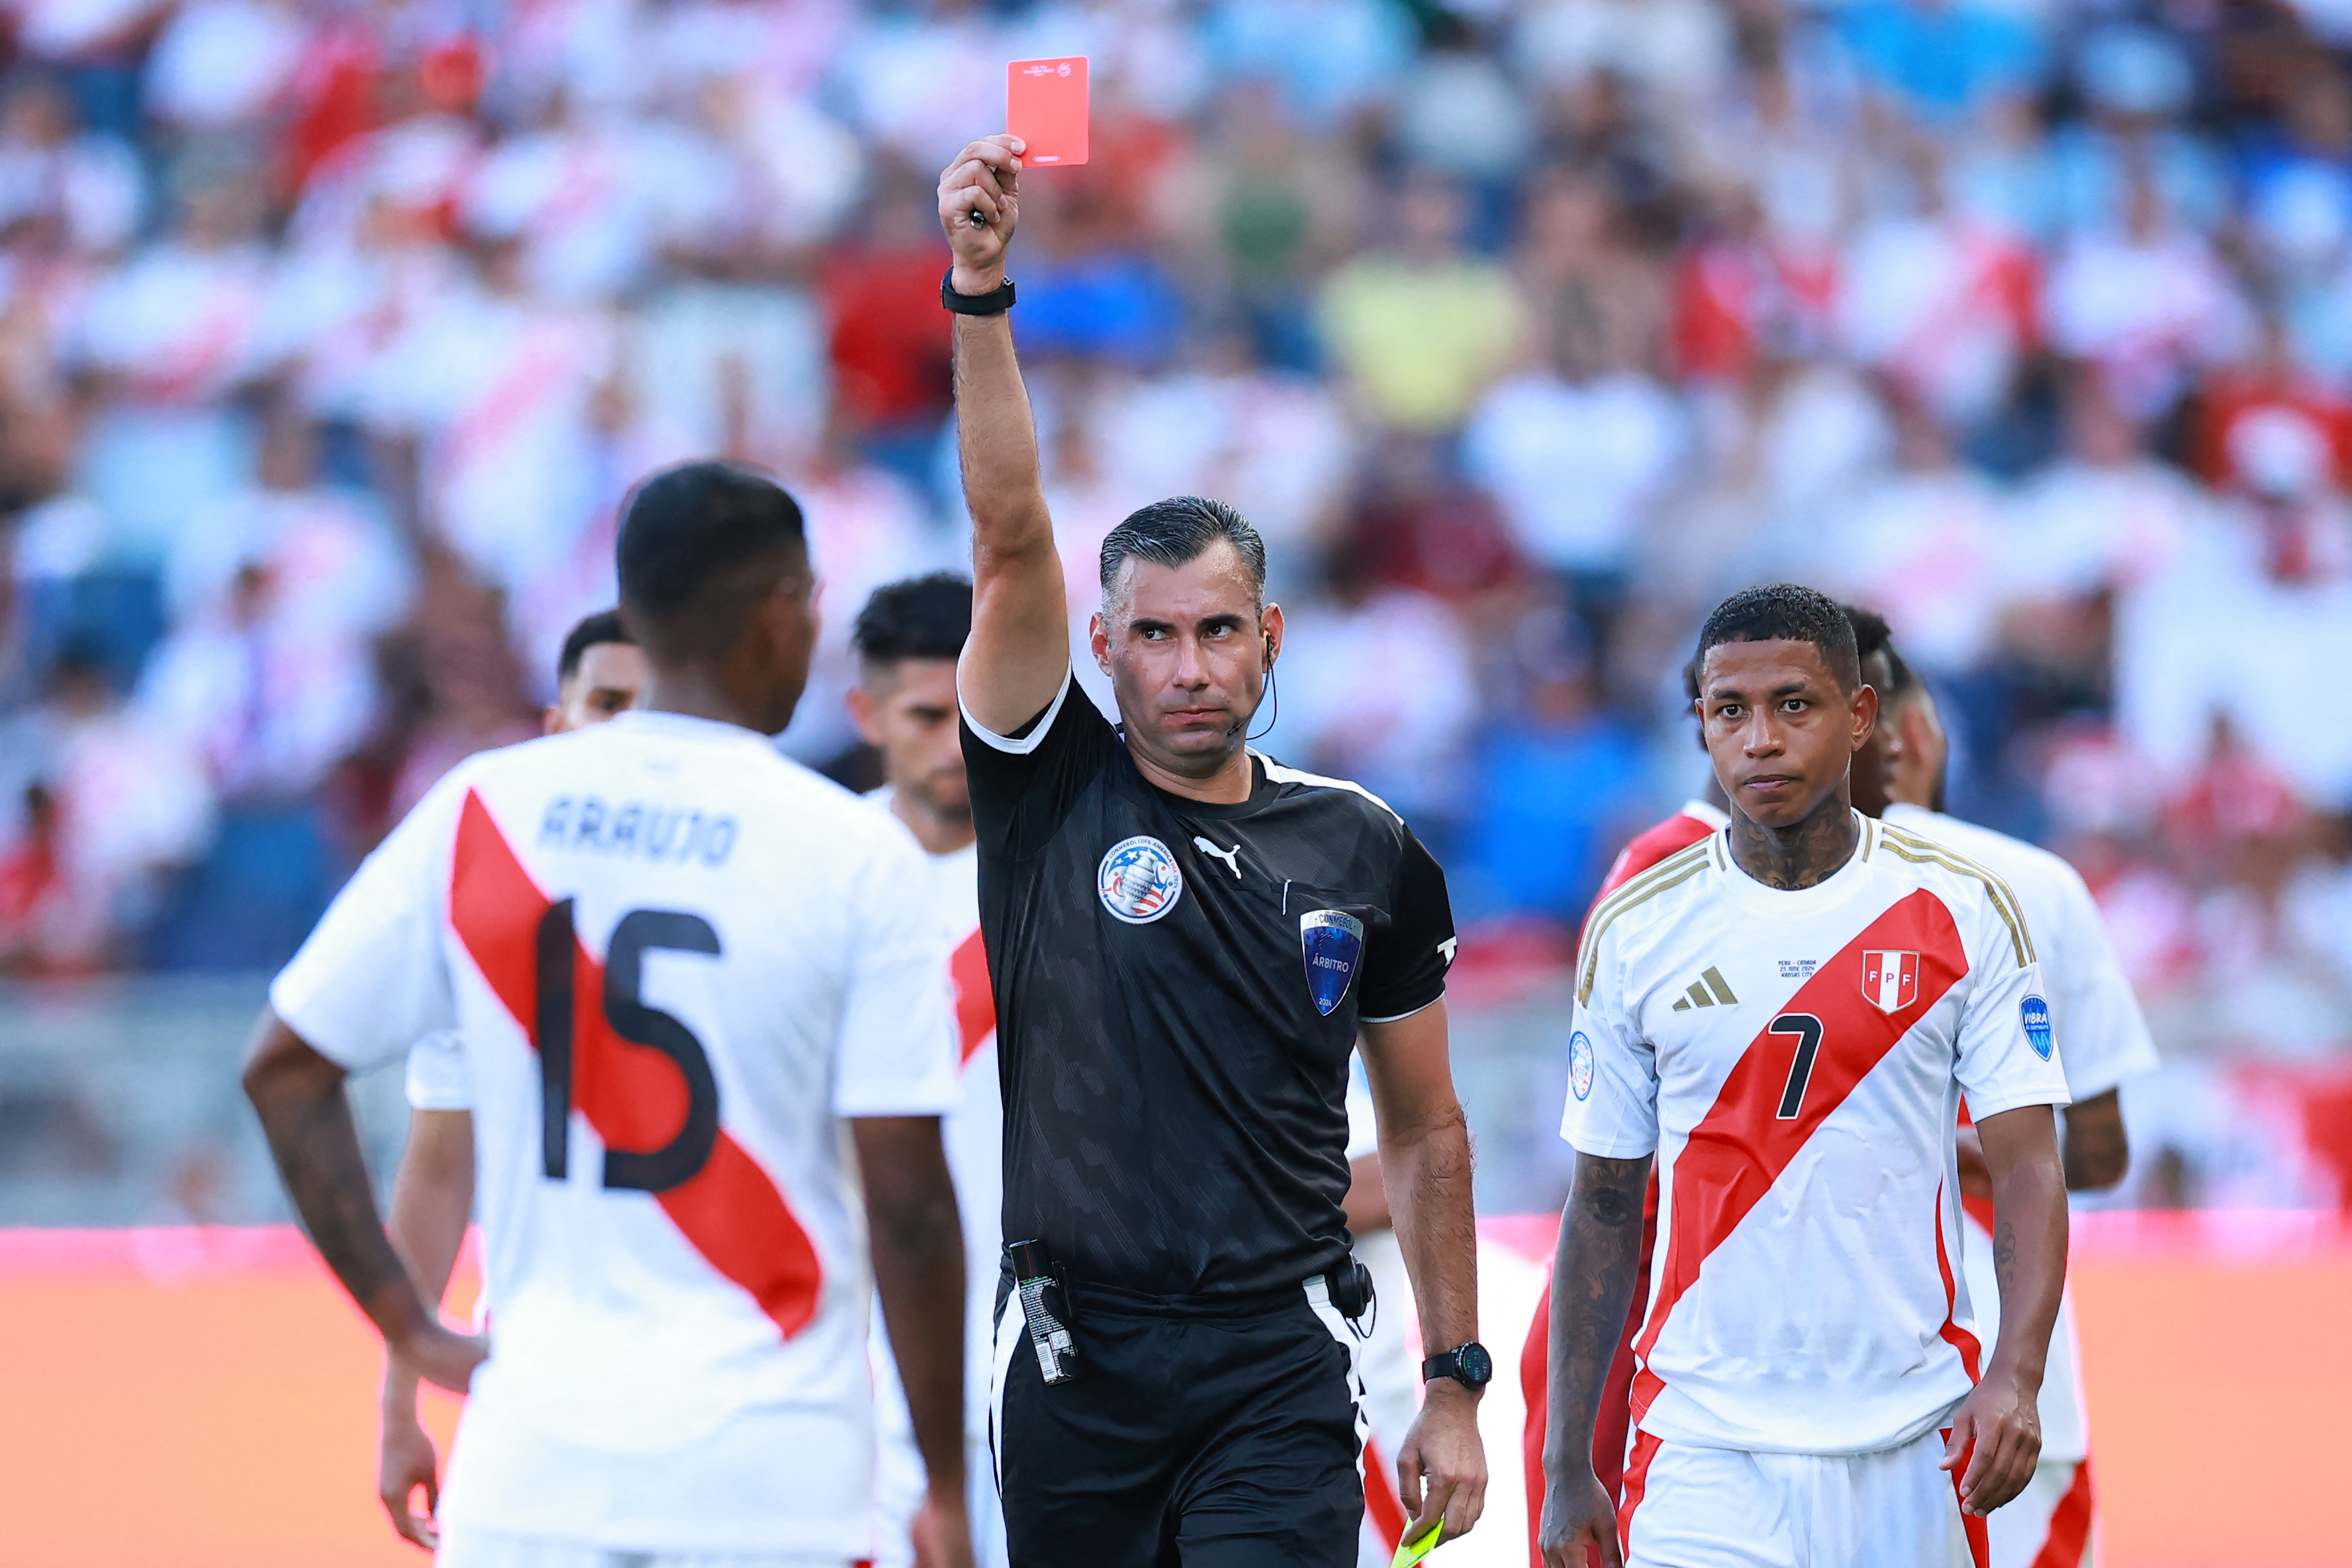
<svg viewBox="0 0 2352 1568">
<path fill-rule="evenodd" d="M 891 792 L 866 797 L 896 825 Z M 997 1086 L 997 1006 L 988 987 L 988 950 L 981 947 L 981 856 L 964 849 L 924 856 L 929 884 L 924 903 L 948 952 L 955 992 L 957 1100 L 941 1121 L 955 1206 L 964 1218 L 964 1474 L 969 1479 L 971 1561 L 1002 1568 L 1004 1516 L 997 1507 L 995 1462 L 988 1455 L 990 1312 L 997 1295 L 997 1260 L 1004 1251 L 1004 1093 Z M 908 1523 L 922 1507 L 929 1476 L 915 1446 L 915 1420 L 898 1382 L 898 1359 L 875 1302 L 875 1568 L 908 1568 L 915 1561 Z"/>
</svg>

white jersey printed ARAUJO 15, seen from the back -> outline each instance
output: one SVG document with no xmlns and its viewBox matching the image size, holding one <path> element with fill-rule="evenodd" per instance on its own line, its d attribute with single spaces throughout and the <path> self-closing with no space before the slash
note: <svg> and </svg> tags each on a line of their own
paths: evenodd
<svg viewBox="0 0 2352 1568">
<path fill-rule="evenodd" d="M 957 1100 L 927 886 L 762 736 L 626 712 L 463 762 L 278 976 L 346 1067 L 463 1041 L 496 1319 L 447 1540 L 866 1554 L 842 1119 Z"/>
</svg>

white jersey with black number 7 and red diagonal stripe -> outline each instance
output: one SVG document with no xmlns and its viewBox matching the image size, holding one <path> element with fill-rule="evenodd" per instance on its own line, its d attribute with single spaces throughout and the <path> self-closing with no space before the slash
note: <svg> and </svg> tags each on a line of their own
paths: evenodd
<svg viewBox="0 0 2352 1568">
<path fill-rule="evenodd" d="M 1635 1425 L 1780 1453 L 1893 1448 L 1983 1356 L 1955 1121 L 2065 1105 L 2032 933 L 1992 872 L 1856 818 L 1769 889 L 1717 832 L 1595 907 L 1562 1138 L 1658 1154 Z"/>
</svg>

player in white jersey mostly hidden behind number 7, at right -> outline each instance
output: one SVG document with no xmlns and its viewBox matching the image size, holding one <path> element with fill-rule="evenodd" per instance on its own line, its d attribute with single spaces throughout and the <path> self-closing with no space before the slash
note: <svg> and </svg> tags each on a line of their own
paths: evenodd
<svg viewBox="0 0 2352 1568">
<path fill-rule="evenodd" d="M 2042 945 L 2051 1020 L 2065 1041 L 2065 1185 L 2112 1187 L 2131 1164 L 2117 1088 L 2154 1072 L 2157 1046 L 2131 992 L 2107 929 L 2082 875 L 2046 849 L 1964 823 L 1943 811 L 1943 722 L 1926 682 L 1903 661 L 1886 621 L 1846 609 L 1863 656 L 1863 679 L 1882 693 L 1870 745 L 1853 757 L 1853 806 L 1867 816 L 1950 844 L 1994 870 L 2018 896 Z M 1992 1229 L 1976 1128 L 1959 1131 L 1959 1190 L 1969 1244 L 1962 1248 L 1969 1295 L 1992 1321 L 1997 1312 Z M 1987 1521 L 1992 1568 L 2082 1568 L 2091 1561 L 2091 1425 L 2082 1394 L 2072 1300 L 2058 1305 L 2049 1373 L 2042 1380 L 2042 1462 L 2016 1502 Z"/>
</svg>

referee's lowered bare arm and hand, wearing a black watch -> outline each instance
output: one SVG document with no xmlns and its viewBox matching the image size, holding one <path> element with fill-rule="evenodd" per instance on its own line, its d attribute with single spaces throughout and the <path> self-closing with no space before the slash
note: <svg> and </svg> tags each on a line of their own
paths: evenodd
<svg viewBox="0 0 2352 1568">
<path fill-rule="evenodd" d="M 1477 1338 L 1477 1218 L 1470 1206 L 1470 1124 L 1454 1095 L 1444 997 L 1418 1013 L 1362 1025 L 1364 1077 L 1381 1117 L 1381 1175 L 1432 1352 Z M 1428 1385 L 1421 1418 L 1397 1450 L 1409 1535 L 1439 1514 L 1446 1540 L 1486 1507 L 1479 1396 L 1454 1378 Z"/>
</svg>

